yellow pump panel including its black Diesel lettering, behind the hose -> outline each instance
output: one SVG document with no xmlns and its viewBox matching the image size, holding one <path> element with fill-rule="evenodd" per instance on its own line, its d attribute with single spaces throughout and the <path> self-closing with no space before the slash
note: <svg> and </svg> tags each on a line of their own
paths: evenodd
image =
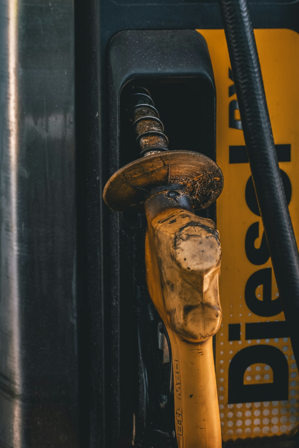
<svg viewBox="0 0 299 448">
<path fill-rule="evenodd" d="M 299 375 L 252 190 L 223 30 L 199 30 L 217 90 L 217 201 L 223 250 L 216 376 L 223 441 L 298 430 Z M 299 35 L 255 30 L 274 141 L 295 234 L 299 226 Z M 270 365 L 271 364 L 271 365 Z M 259 398 L 260 397 L 260 398 Z"/>
</svg>

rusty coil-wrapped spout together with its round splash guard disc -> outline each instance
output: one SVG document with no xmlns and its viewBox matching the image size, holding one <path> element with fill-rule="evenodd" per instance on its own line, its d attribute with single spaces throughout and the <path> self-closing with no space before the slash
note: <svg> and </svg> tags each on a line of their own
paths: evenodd
<svg viewBox="0 0 299 448">
<path fill-rule="evenodd" d="M 143 211 L 148 194 L 157 188 L 185 190 L 195 210 L 214 202 L 223 188 L 221 169 L 199 152 L 168 150 L 168 138 L 148 90 L 134 87 L 126 109 L 138 134 L 140 155 L 145 157 L 133 160 L 110 177 L 103 192 L 108 207 Z"/>
</svg>

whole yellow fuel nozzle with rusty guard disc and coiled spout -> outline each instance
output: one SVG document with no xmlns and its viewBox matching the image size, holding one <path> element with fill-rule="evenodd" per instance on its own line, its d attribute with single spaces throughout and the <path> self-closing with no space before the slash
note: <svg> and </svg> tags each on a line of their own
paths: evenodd
<svg viewBox="0 0 299 448">
<path fill-rule="evenodd" d="M 212 336 L 221 324 L 221 246 L 213 221 L 194 209 L 217 199 L 223 176 L 202 154 L 168 151 L 148 92 L 134 96 L 130 110 L 145 157 L 114 173 L 103 196 L 113 210 L 147 215 L 147 286 L 171 342 L 178 446 L 220 448 Z"/>
</svg>

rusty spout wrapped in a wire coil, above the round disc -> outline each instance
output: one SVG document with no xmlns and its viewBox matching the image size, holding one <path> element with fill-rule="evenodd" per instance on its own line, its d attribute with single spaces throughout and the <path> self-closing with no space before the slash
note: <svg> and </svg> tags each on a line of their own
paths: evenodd
<svg viewBox="0 0 299 448">
<path fill-rule="evenodd" d="M 141 148 L 140 156 L 169 151 L 163 123 L 147 89 L 134 87 L 133 93 L 127 101 L 126 109 L 138 135 L 136 140 Z"/>
</svg>

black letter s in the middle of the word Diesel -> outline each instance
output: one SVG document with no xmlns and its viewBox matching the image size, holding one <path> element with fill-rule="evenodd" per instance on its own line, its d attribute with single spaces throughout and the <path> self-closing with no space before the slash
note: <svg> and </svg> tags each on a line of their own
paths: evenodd
<svg viewBox="0 0 299 448">
<path fill-rule="evenodd" d="M 260 236 L 259 229 L 260 229 L 259 222 L 251 224 L 251 226 L 247 230 L 245 237 L 245 252 L 248 260 L 252 264 L 264 264 L 266 263 L 266 261 L 268 261 L 270 257 L 266 235 L 264 231 L 260 247 L 256 249 L 254 245 L 254 242 Z"/>
</svg>

